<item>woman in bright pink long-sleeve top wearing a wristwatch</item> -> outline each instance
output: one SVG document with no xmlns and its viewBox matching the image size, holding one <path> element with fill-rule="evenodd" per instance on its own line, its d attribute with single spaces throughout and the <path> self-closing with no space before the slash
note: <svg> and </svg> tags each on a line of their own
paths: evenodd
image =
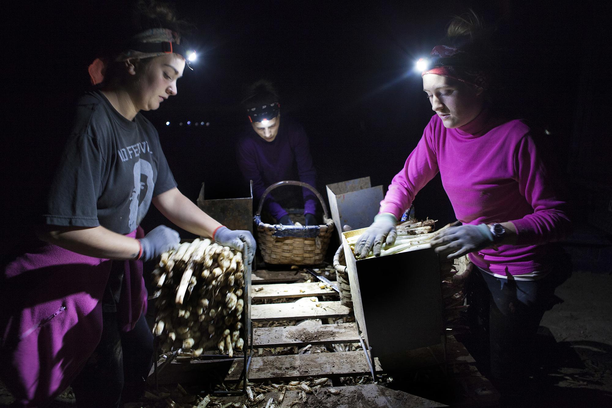
<svg viewBox="0 0 612 408">
<path fill-rule="evenodd" d="M 447 259 L 468 254 L 476 266 L 471 279 L 487 298 L 491 379 L 517 390 L 561 275 L 562 253 L 550 242 L 569 232 L 570 220 L 529 127 L 493 113 L 479 27 L 476 15 L 455 18 L 431 51 L 422 78 L 436 114 L 355 250 L 378 256 L 383 243 L 394 243 L 401 214 L 439 172 L 462 225 L 431 244 Z"/>
</svg>

